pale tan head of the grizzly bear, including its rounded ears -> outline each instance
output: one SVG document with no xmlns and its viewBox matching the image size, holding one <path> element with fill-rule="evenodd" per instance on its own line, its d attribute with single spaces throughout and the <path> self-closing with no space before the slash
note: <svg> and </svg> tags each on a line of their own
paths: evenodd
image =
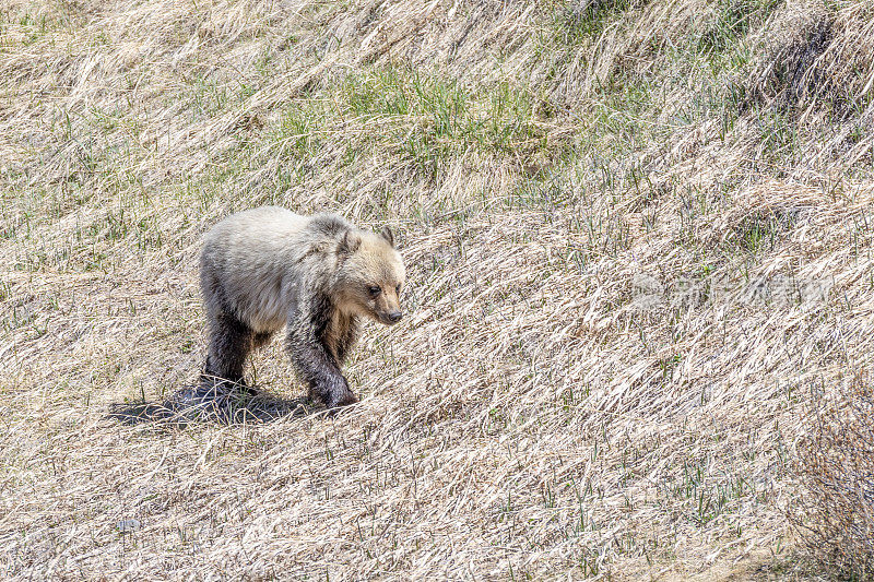
<svg viewBox="0 0 874 582">
<path fill-rule="evenodd" d="M 387 228 L 379 235 L 350 233 L 341 242 L 345 253 L 338 272 L 338 307 L 392 325 L 401 320 L 400 292 L 406 274 Z"/>
</svg>

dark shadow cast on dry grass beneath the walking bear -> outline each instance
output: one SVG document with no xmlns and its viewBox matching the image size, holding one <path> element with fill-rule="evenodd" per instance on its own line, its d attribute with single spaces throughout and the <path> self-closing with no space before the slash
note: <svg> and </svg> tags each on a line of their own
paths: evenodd
<svg viewBox="0 0 874 582">
<path fill-rule="evenodd" d="M 106 418 L 123 425 L 146 423 L 187 425 L 267 424 L 328 412 L 307 397 L 283 399 L 270 392 L 236 385 L 187 385 L 161 402 L 115 403 Z"/>
</svg>

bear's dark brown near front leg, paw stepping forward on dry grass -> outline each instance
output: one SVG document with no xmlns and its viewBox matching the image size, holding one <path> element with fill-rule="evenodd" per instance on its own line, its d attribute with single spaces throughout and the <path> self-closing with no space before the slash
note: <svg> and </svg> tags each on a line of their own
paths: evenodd
<svg viewBox="0 0 874 582">
<path fill-rule="evenodd" d="M 314 333 L 292 326 L 288 331 L 288 352 L 300 376 L 309 384 L 310 395 L 321 399 L 328 408 L 358 402 L 333 356 Z"/>
</svg>

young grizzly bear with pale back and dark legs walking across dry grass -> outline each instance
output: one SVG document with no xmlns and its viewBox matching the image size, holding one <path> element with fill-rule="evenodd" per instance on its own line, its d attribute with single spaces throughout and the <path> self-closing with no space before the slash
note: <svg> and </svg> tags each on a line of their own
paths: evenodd
<svg viewBox="0 0 874 582">
<path fill-rule="evenodd" d="M 209 353 L 201 385 L 251 391 L 246 357 L 283 326 L 310 397 L 328 408 L 358 401 L 341 372 L 359 319 L 401 320 L 404 264 L 386 227 L 379 235 L 334 214 L 300 216 L 277 206 L 216 224 L 200 256 Z"/>
</svg>

